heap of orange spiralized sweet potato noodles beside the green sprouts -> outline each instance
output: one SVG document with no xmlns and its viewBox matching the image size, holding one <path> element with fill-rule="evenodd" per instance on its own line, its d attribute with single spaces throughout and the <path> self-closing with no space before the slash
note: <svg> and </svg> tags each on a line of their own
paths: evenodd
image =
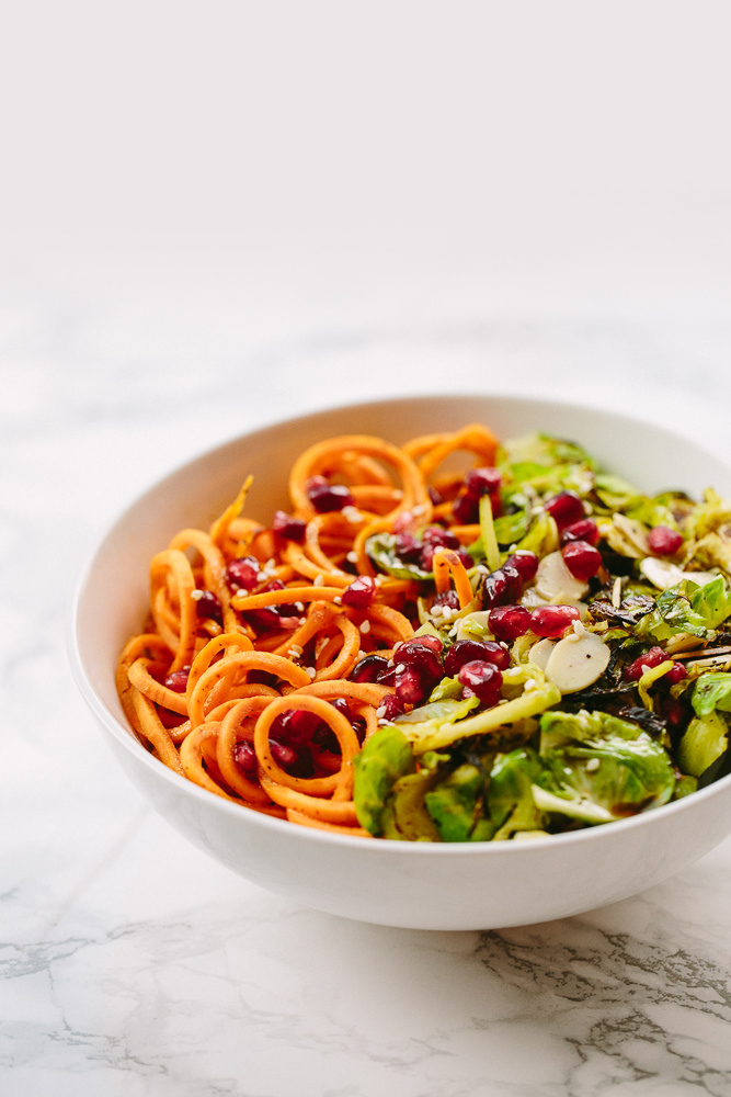
<svg viewBox="0 0 731 1097">
<path fill-rule="evenodd" d="M 242 514 L 251 477 L 209 530 L 181 530 L 150 563 L 148 620 L 117 665 L 117 692 L 140 742 L 227 801 L 297 825 L 369 837 L 353 804 L 353 762 L 377 730 L 378 709 L 392 688 L 354 682 L 350 675 L 364 654 L 390 656 L 413 635 L 404 610 L 419 591 L 410 579 L 377 575 L 366 544 L 374 533 L 443 520 L 450 505 L 435 504 L 432 493 L 454 496 L 460 483 L 445 463 L 464 452 L 473 464 L 493 464 L 495 449 L 495 437 L 481 425 L 402 446 L 367 434 L 327 439 L 307 449 L 289 474 L 289 514 L 304 523 L 301 541 L 275 535 L 265 524 L 273 516 Z M 308 495 L 315 476 L 347 485 L 353 505 L 318 513 Z M 450 524 L 462 544 L 479 532 Z M 251 590 L 228 579 L 231 562 L 244 556 L 260 568 L 261 581 Z M 375 597 L 361 608 L 343 600 L 356 576 L 376 583 Z M 459 557 L 441 550 L 434 590 L 448 589 L 460 607 L 472 598 Z M 217 618 L 198 609 L 209 596 Z M 270 614 L 267 627 L 262 612 Z M 336 699 L 346 702 L 354 723 L 331 703 Z M 277 730 L 296 711 L 309 713 L 322 733 L 310 744 L 308 776 L 295 776 L 275 749 Z"/>
</svg>

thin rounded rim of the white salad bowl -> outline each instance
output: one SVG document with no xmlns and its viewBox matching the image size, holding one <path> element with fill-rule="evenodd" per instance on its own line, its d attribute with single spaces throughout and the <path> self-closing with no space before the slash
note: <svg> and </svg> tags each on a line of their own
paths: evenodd
<svg viewBox="0 0 731 1097">
<path fill-rule="evenodd" d="M 623 420 L 625 422 L 632 422 L 637 427 L 647 427 L 653 430 L 655 433 L 664 433 L 669 441 L 673 438 L 682 438 L 686 444 L 693 446 L 699 456 L 708 456 L 709 460 L 721 462 L 731 470 L 731 463 L 717 451 L 709 449 L 708 446 L 699 443 L 693 436 L 683 433 L 672 427 L 666 427 L 663 423 L 659 423 L 651 419 L 648 419 L 633 409 L 629 411 L 615 411 L 608 408 L 602 408 L 592 405 L 584 405 L 574 400 L 563 400 L 556 398 L 544 398 L 526 396 L 524 394 L 511 394 L 511 393 L 432 393 L 432 394 L 421 394 L 419 396 L 393 396 L 384 397 L 368 400 L 356 400 L 349 402 L 346 404 L 332 404 L 318 407 L 313 410 L 299 412 L 297 415 L 288 415 L 281 418 L 272 419 L 266 421 L 262 426 L 258 426 L 252 430 L 247 430 L 238 434 L 232 434 L 221 442 L 216 443 L 213 446 L 204 446 L 199 451 L 193 453 L 192 456 L 187 457 L 182 463 L 179 463 L 168 472 L 163 473 L 161 476 L 148 483 L 140 493 L 138 493 L 133 499 L 125 504 L 125 506 L 116 513 L 111 523 L 107 523 L 101 535 L 96 535 L 92 547 L 88 551 L 87 557 L 82 564 L 79 572 L 76 587 L 73 591 L 73 598 L 71 603 L 71 613 L 68 620 L 67 634 L 66 634 L 66 648 L 67 657 L 70 664 L 72 676 L 76 680 L 77 687 L 85 701 L 91 713 L 96 717 L 96 720 L 102 724 L 104 730 L 112 735 L 112 737 L 118 743 L 128 754 L 132 756 L 134 761 L 138 765 L 144 765 L 151 773 L 156 774 L 158 778 L 170 783 L 171 788 L 178 790 L 181 794 L 185 796 L 192 796 L 194 800 L 198 801 L 199 804 L 206 807 L 208 811 L 219 811 L 224 815 L 229 816 L 231 819 L 242 819 L 245 824 L 247 821 L 253 827 L 261 827 L 264 830 L 271 830 L 273 834 L 279 834 L 283 837 L 285 835 L 290 835 L 296 841 L 316 841 L 322 842 L 325 846 L 334 845 L 339 848 L 356 848 L 364 851 L 365 856 L 385 856 L 385 857 L 396 857 L 407 853 L 409 857 L 455 857 L 455 855 L 468 858 L 476 857 L 490 857 L 500 858 L 505 856 L 521 857 L 529 856 L 532 851 L 536 848 L 547 849 L 552 846 L 560 846 L 560 848 L 566 848 L 569 845 L 583 845 L 586 841 L 593 841 L 594 844 L 602 841 L 610 841 L 612 835 L 616 835 L 617 838 L 620 834 L 626 834 L 628 832 L 636 830 L 649 825 L 652 819 L 658 819 L 660 817 L 669 818 L 671 816 L 676 816 L 683 814 L 687 811 L 694 811 L 694 804 L 700 805 L 709 799 L 716 799 L 718 795 L 722 794 L 724 791 L 731 792 L 731 774 L 720 778 L 718 781 L 706 785 L 703 789 L 698 789 L 679 800 L 672 801 L 666 804 L 661 804 L 658 807 L 648 810 L 647 812 L 640 813 L 638 815 L 632 815 L 627 818 L 614 819 L 610 824 L 603 824 L 596 826 L 587 826 L 583 829 L 567 832 L 563 834 L 550 835 L 548 837 L 526 837 L 518 840 L 512 841 L 455 841 L 455 842 L 430 842 L 430 841 L 388 841 L 385 839 L 366 840 L 359 835 L 349 835 L 349 834 L 336 834 L 331 830 L 319 829 L 317 827 L 309 826 L 296 826 L 286 819 L 281 819 L 275 816 L 266 815 L 262 812 L 258 812 L 252 808 L 248 808 L 245 804 L 233 803 L 228 800 L 224 800 L 221 796 L 217 796 L 206 789 L 201 788 L 194 781 L 175 773 L 168 766 L 157 759 L 149 750 L 146 749 L 144 744 L 135 736 L 130 727 L 119 721 L 114 713 L 110 711 L 104 701 L 99 697 L 98 692 L 91 685 L 85 667 L 84 660 L 81 655 L 81 645 L 79 636 L 79 625 L 81 615 L 81 604 L 84 597 L 84 591 L 87 584 L 93 573 L 94 565 L 100 557 L 104 546 L 110 543 L 118 527 L 124 524 L 128 516 L 137 507 L 141 506 L 145 499 L 162 490 L 169 480 L 176 479 L 179 476 L 185 473 L 185 471 L 203 460 L 213 459 L 217 453 L 220 453 L 229 448 L 242 444 L 244 441 L 254 441 L 260 433 L 265 433 L 277 428 L 285 428 L 288 425 L 301 423 L 307 419 L 315 419 L 321 415 L 338 412 L 357 412 L 363 411 L 374 411 L 386 406 L 396 407 L 398 405 L 413 405 L 429 404 L 435 399 L 444 400 L 445 397 L 452 396 L 455 399 L 494 399 L 495 402 L 510 402 L 513 405 L 519 405 L 523 409 L 527 409 L 530 405 L 535 405 L 536 408 L 552 408 L 556 410 L 561 410 L 562 412 L 575 411 L 578 415 L 593 415 L 603 419 L 605 422 L 609 423 L 612 420 Z M 152 805 L 153 806 L 153 805 Z M 379 853 L 370 853 L 369 850 L 380 850 Z M 521 852 L 523 851 L 523 852 Z"/>
</svg>

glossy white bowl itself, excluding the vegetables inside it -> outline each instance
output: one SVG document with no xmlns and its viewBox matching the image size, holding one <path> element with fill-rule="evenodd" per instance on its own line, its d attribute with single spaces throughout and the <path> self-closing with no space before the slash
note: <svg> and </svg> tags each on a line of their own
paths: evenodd
<svg viewBox="0 0 731 1097">
<path fill-rule="evenodd" d="M 185 838 L 272 892 L 331 914 L 419 929 L 488 929 L 566 917 L 666 879 L 731 832 L 731 777 L 646 815 L 547 839 L 432 845 L 341 837 L 221 800 L 179 777 L 129 731 L 114 685 L 119 651 L 146 612 L 151 556 L 206 525 L 254 475 L 251 514 L 286 506 L 286 473 L 313 441 L 344 432 L 406 441 L 482 421 L 503 438 L 544 430 L 584 444 L 648 491 L 713 486 L 731 468 L 662 427 L 567 404 L 435 396 L 330 409 L 245 434 L 147 491 L 102 541 L 80 583 L 71 663 L 114 756 Z"/>
</svg>

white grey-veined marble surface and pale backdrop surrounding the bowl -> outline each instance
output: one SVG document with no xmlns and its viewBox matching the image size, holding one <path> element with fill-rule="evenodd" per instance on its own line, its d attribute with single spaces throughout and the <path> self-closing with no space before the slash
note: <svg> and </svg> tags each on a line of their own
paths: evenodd
<svg viewBox="0 0 731 1097">
<path fill-rule="evenodd" d="M 132 22 L 39 7 L 45 36 L 21 5 L 0 44 L 23 104 L 0 179 L 0 1093 L 731 1097 L 731 839 L 557 923 L 340 920 L 169 829 L 66 656 L 106 525 L 258 423 L 527 392 L 631 408 L 731 459 L 715 5 L 693 27 L 672 5 L 620 3 L 601 27 L 534 5 L 528 35 L 502 5 L 489 64 L 470 5 L 456 32 L 430 5 L 418 24 L 368 5 L 382 34 L 331 5 L 330 37 L 327 5 L 260 5 L 193 76 L 197 21 L 171 45 L 156 4 L 125 5 Z M 578 37 L 550 34 L 559 9 Z M 253 122 L 218 110 L 244 99 Z"/>
</svg>

